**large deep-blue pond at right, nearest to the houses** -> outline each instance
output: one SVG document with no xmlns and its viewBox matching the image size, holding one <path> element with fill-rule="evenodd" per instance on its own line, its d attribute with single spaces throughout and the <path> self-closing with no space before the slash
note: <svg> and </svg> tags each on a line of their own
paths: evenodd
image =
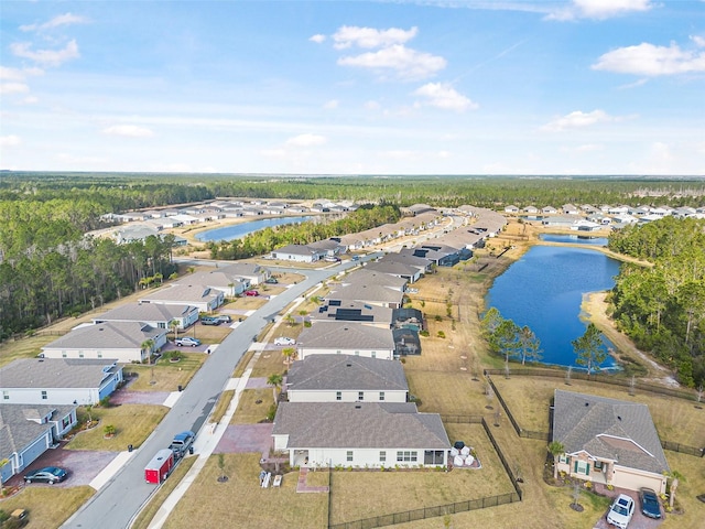
<svg viewBox="0 0 705 529">
<path fill-rule="evenodd" d="M 619 262 L 599 251 L 534 246 L 495 280 L 486 306 L 497 307 L 519 326 L 529 325 L 541 341 L 542 363 L 574 366 L 572 341 L 585 334 L 583 294 L 615 285 Z M 605 341 L 605 347 L 611 344 Z M 615 368 L 608 356 L 603 368 Z"/>
</svg>

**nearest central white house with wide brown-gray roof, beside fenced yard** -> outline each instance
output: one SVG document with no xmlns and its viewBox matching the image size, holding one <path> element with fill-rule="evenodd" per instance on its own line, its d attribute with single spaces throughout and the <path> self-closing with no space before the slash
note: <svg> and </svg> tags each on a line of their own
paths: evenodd
<svg viewBox="0 0 705 529">
<path fill-rule="evenodd" d="M 281 402 L 272 436 L 292 466 L 443 467 L 451 449 L 441 415 L 412 402 Z"/>
</svg>

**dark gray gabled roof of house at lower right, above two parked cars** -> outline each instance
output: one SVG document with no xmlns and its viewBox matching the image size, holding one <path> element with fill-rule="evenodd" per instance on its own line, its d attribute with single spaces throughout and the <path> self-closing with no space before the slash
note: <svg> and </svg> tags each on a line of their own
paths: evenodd
<svg viewBox="0 0 705 529">
<path fill-rule="evenodd" d="M 555 390 L 553 440 L 573 454 L 661 474 L 669 469 L 646 404 Z"/>
</svg>

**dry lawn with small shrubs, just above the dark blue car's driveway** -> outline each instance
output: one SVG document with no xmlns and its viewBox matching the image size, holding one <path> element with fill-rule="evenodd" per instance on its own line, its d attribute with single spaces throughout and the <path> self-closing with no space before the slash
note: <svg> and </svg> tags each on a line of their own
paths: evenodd
<svg viewBox="0 0 705 529">
<path fill-rule="evenodd" d="M 86 421 L 86 410 L 79 409 L 79 421 Z M 121 404 L 113 408 L 93 408 L 93 420 L 99 420 L 98 427 L 78 433 L 66 445 L 68 450 L 124 450 L 128 444 L 139 447 L 164 418 L 167 408 L 163 406 Z M 104 439 L 104 428 L 112 424 L 117 434 Z"/>
</svg>

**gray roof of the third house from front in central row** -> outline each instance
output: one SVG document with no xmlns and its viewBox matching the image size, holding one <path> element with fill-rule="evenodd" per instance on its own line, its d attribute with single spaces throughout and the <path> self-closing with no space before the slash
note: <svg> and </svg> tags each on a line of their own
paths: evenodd
<svg viewBox="0 0 705 529">
<path fill-rule="evenodd" d="M 299 336 L 303 348 L 394 349 L 390 328 L 350 322 L 316 322 Z M 388 360 L 389 361 L 389 360 Z"/>
</svg>

